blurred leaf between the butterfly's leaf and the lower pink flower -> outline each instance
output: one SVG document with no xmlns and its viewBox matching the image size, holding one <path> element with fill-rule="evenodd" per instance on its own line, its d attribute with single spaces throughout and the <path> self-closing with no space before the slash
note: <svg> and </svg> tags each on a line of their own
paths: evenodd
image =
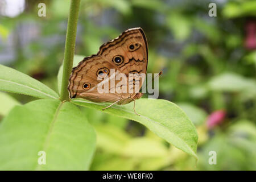
<svg viewBox="0 0 256 182">
<path fill-rule="evenodd" d="M 202 125 L 205 122 L 207 113 L 200 107 L 185 102 L 177 103 L 177 105 L 188 115 L 194 125 Z"/>
</svg>

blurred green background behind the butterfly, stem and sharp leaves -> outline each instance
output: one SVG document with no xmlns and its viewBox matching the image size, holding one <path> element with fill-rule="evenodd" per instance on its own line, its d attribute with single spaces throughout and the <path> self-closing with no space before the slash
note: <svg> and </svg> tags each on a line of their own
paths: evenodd
<svg viewBox="0 0 256 182">
<path fill-rule="evenodd" d="M 46 3 L 46 17 L 38 4 Z M 209 3 L 217 5 L 210 17 Z M 68 0 L 0 0 L 0 64 L 57 91 Z M 82 0 L 76 54 L 97 53 L 127 28 L 148 39 L 148 73 L 158 73 L 159 98 L 179 105 L 199 135 L 199 160 L 139 123 L 83 109 L 97 132 L 92 170 L 256 169 L 256 1 Z M 0 92 L 0 122 L 34 98 Z M 209 152 L 217 164 L 210 165 Z"/>
</svg>

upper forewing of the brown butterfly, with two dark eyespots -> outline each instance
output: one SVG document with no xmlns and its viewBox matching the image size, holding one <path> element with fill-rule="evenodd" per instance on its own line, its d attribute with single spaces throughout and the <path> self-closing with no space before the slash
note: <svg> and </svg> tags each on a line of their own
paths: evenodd
<svg viewBox="0 0 256 182">
<path fill-rule="evenodd" d="M 118 38 L 103 44 L 98 55 L 106 60 L 112 60 L 113 63 L 115 63 L 113 57 L 122 56 L 123 63 L 117 65 L 121 73 L 133 71 L 146 73 L 148 61 L 146 36 L 142 28 L 130 28 Z"/>
</svg>

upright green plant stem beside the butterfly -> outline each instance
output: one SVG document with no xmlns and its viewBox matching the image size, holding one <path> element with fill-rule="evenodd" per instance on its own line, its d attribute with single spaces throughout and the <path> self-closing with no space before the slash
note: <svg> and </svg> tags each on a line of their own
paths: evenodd
<svg viewBox="0 0 256 182">
<path fill-rule="evenodd" d="M 80 0 L 72 0 L 68 16 L 68 27 L 65 42 L 63 76 L 61 82 L 60 100 L 69 101 L 68 80 L 73 67 L 73 57 L 76 43 L 76 28 L 79 17 Z"/>
</svg>

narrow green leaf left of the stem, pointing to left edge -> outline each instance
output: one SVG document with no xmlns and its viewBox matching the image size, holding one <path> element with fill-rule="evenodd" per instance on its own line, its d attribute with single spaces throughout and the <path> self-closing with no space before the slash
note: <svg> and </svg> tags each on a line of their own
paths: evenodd
<svg viewBox="0 0 256 182">
<path fill-rule="evenodd" d="M 42 82 L 4 65 L 0 65 L 0 90 L 38 98 L 59 98 Z"/>
</svg>

